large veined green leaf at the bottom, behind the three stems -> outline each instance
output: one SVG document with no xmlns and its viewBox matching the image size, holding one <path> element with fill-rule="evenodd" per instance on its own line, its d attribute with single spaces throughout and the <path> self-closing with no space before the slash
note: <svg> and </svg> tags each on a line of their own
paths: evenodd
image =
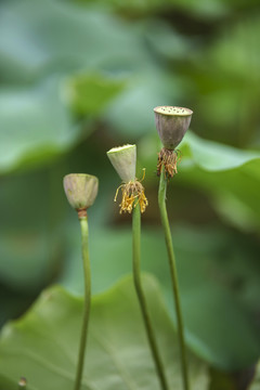
<svg viewBox="0 0 260 390">
<path fill-rule="evenodd" d="M 178 342 L 157 284 L 145 277 L 145 290 L 167 367 L 170 387 L 181 389 Z M 70 389 L 75 378 L 82 299 L 61 287 L 46 290 L 32 309 L 2 332 L 0 385 L 17 387 L 23 375 L 28 390 Z M 207 388 L 206 366 L 190 355 L 193 389 Z M 132 278 L 95 297 L 82 389 L 159 389 L 150 355 Z"/>
</svg>

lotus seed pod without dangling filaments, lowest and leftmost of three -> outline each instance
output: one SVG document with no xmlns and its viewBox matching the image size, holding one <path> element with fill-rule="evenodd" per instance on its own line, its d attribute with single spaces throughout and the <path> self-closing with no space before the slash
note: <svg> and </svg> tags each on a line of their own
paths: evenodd
<svg viewBox="0 0 260 390">
<path fill-rule="evenodd" d="M 91 174 L 70 173 L 63 179 L 64 191 L 75 210 L 93 205 L 99 190 L 99 179 Z"/>
</svg>

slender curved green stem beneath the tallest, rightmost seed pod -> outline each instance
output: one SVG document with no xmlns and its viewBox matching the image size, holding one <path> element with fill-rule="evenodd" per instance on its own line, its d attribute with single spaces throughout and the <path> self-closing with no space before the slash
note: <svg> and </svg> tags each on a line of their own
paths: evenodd
<svg viewBox="0 0 260 390">
<path fill-rule="evenodd" d="M 181 353 L 183 388 L 185 390 L 188 390 L 190 386 L 188 386 L 186 352 L 185 352 L 184 334 L 183 334 L 183 321 L 182 321 L 182 313 L 181 313 L 176 257 L 174 257 L 169 219 L 168 219 L 168 213 L 167 213 L 167 208 L 166 208 L 166 193 L 167 193 L 167 178 L 165 177 L 165 170 L 162 169 L 161 173 L 160 173 L 158 202 L 159 202 L 161 223 L 162 223 L 164 231 L 165 231 L 165 239 L 166 239 L 166 246 L 167 246 L 168 259 L 169 259 L 169 265 L 170 265 L 170 275 L 171 275 L 171 282 L 172 282 L 173 298 L 174 298 L 174 303 L 176 303 L 178 339 L 179 339 L 180 353 Z"/>
</svg>

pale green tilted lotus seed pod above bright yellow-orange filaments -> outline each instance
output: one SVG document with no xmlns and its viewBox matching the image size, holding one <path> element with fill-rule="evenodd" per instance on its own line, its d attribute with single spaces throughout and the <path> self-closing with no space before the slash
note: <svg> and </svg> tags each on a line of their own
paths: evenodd
<svg viewBox="0 0 260 390">
<path fill-rule="evenodd" d="M 125 183 L 135 180 L 136 145 L 113 147 L 106 154 Z"/>
</svg>

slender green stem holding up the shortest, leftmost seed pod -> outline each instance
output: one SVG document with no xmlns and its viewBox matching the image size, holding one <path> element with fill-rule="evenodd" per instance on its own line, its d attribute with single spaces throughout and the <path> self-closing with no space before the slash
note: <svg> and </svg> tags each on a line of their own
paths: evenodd
<svg viewBox="0 0 260 390">
<path fill-rule="evenodd" d="M 88 325 L 89 325 L 89 313 L 90 313 L 90 303 L 91 303 L 91 278 L 90 278 L 90 260 L 89 260 L 89 227 L 88 227 L 88 217 L 79 218 L 80 227 L 81 227 L 81 246 L 82 246 L 82 260 L 83 260 L 83 274 L 84 274 L 84 304 L 83 304 L 83 321 L 81 328 L 81 338 L 79 346 L 78 354 L 78 366 L 75 380 L 75 390 L 80 389 L 82 372 L 83 372 L 83 362 L 88 336 Z"/>
</svg>

